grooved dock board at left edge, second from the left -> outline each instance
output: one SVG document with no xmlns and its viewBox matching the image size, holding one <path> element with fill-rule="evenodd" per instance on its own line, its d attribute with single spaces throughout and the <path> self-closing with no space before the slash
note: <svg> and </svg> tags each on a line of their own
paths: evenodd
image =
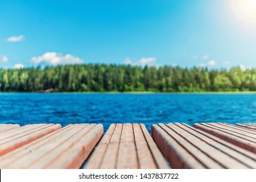
<svg viewBox="0 0 256 182">
<path fill-rule="evenodd" d="M 31 125 L 29 127 L 20 127 L 19 130 L 3 133 L 0 140 L 0 156 L 19 148 L 29 142 L 32 142 L 42 136 L 60 129 L 59 124 Z"/>
</svg>

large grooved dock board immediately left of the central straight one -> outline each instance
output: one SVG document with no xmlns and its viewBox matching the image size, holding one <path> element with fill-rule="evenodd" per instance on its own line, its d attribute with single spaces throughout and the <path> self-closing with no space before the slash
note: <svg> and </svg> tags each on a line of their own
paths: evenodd
<svg viewBox="0 0 256 182">
<path fill-rule="evenodd" d="M 0 157 L 0 168 L 80 168 L 103 134 L 101 124 L 67 125 Z"/>
</svg>

